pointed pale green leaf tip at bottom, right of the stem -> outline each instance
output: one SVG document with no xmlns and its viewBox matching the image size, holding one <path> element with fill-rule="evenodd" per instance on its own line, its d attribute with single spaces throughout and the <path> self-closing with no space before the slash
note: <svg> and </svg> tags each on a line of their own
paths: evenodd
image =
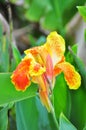
<svg viewBox="0 0 86 130">
<path fill-rule="evenodd" d="M 73 124 L 61 113 L 59 119 L 59 130 L 77 130 Z"/>
</svg>

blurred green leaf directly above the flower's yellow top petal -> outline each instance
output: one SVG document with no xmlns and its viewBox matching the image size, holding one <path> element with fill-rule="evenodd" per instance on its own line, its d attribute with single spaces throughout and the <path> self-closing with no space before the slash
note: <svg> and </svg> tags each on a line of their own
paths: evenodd
<svg viewBox="0 0 86 130">
<path fill-rule="evenodd" d="M 59 7 L 59 1 L 50 1 L 51 9 L 46 12 L 44 19 L 42 20 L 42 26 L 50 30 L 63 31 L 61 7 Z"/>
</svg>

